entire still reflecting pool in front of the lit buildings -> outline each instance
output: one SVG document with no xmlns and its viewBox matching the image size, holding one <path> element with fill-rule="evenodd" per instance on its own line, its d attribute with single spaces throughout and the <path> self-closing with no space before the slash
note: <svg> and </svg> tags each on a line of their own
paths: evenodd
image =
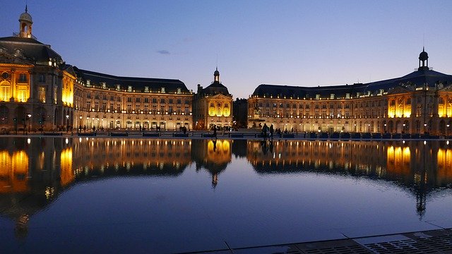
<svg viewBox="0 0 452 254">
<path fill-rule="evenodd" d="M 2 138 L 0 251 L 182 253 L 451 228 L 446 141 Z"/>
</svg>

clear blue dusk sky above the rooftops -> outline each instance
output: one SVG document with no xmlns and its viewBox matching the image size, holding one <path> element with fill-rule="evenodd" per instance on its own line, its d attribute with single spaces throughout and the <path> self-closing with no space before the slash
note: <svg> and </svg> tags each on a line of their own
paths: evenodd
<svg viewBox="0 0 452 254">
<path fill-rule="evenodd" d="M 234 99 L 260 84 L 344 85 L 429 66 L 452 73 L 452 1 L 2 0 L 0 37 L 32 33 L 66 63 L 111 75 L 220 81 Z"/>
</svg>

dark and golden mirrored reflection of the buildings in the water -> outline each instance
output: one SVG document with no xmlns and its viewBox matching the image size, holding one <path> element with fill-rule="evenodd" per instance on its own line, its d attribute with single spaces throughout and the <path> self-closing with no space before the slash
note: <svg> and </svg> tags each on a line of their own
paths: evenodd
<svg viewBox="0 0 452 254">
<path fill-rule="evenodd" d="M 446 141 L 4 138 L 1 214 L 16 222 L 16 236 L 23 237 L 28 219 L 73 184 L 109 176 L 177 177 L 193 162 L 196 171 L 208 171 L 215 188 L 232 155 L 246 157 L 258 174 L 315 171 L 390 181 L 415 196 L 421 218 L 427 195 L 452 183 Z"/>
</svg>

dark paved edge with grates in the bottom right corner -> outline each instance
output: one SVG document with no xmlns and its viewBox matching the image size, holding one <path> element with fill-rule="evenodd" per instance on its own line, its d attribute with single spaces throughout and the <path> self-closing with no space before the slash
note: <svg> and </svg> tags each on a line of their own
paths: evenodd
<svg viewBox="0 0 452 254">
<path fill-rule="evenodd" d="M 452 253 L 452 229 L 349 238 L 334 241 L 293 243 L 283 246 L 216 250 L 202 253 Z"/>
</svg>

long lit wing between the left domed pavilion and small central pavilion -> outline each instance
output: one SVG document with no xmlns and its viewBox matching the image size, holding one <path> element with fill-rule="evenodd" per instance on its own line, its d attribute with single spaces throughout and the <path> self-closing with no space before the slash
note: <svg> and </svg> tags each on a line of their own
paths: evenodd
<svg viewBox="0 0 452 254">
<path fill-rule="evenodd" d="M 75 126 L 179 130 L 192 127 L 193 92 L 180 80 L 117 77 L 74 67 Z"/>
</svg>

